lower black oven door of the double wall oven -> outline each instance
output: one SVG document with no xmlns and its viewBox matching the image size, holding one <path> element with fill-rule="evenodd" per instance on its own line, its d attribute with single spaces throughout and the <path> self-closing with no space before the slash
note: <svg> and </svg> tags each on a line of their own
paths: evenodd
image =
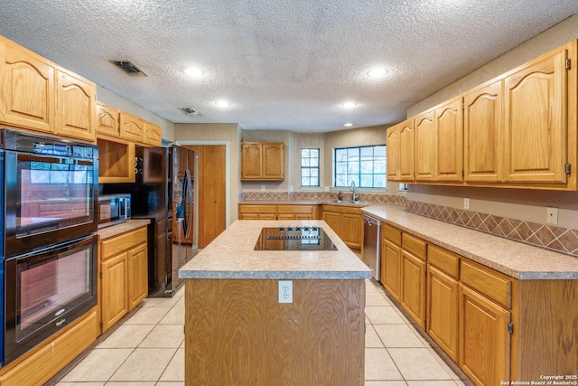
<svg viewBox="0 0 578 386">
<path fill-rule="evenodd" d="M 91 235 L 5 259 L 5 363 L 97 305 L 97 246 Z"/>
</svg>

